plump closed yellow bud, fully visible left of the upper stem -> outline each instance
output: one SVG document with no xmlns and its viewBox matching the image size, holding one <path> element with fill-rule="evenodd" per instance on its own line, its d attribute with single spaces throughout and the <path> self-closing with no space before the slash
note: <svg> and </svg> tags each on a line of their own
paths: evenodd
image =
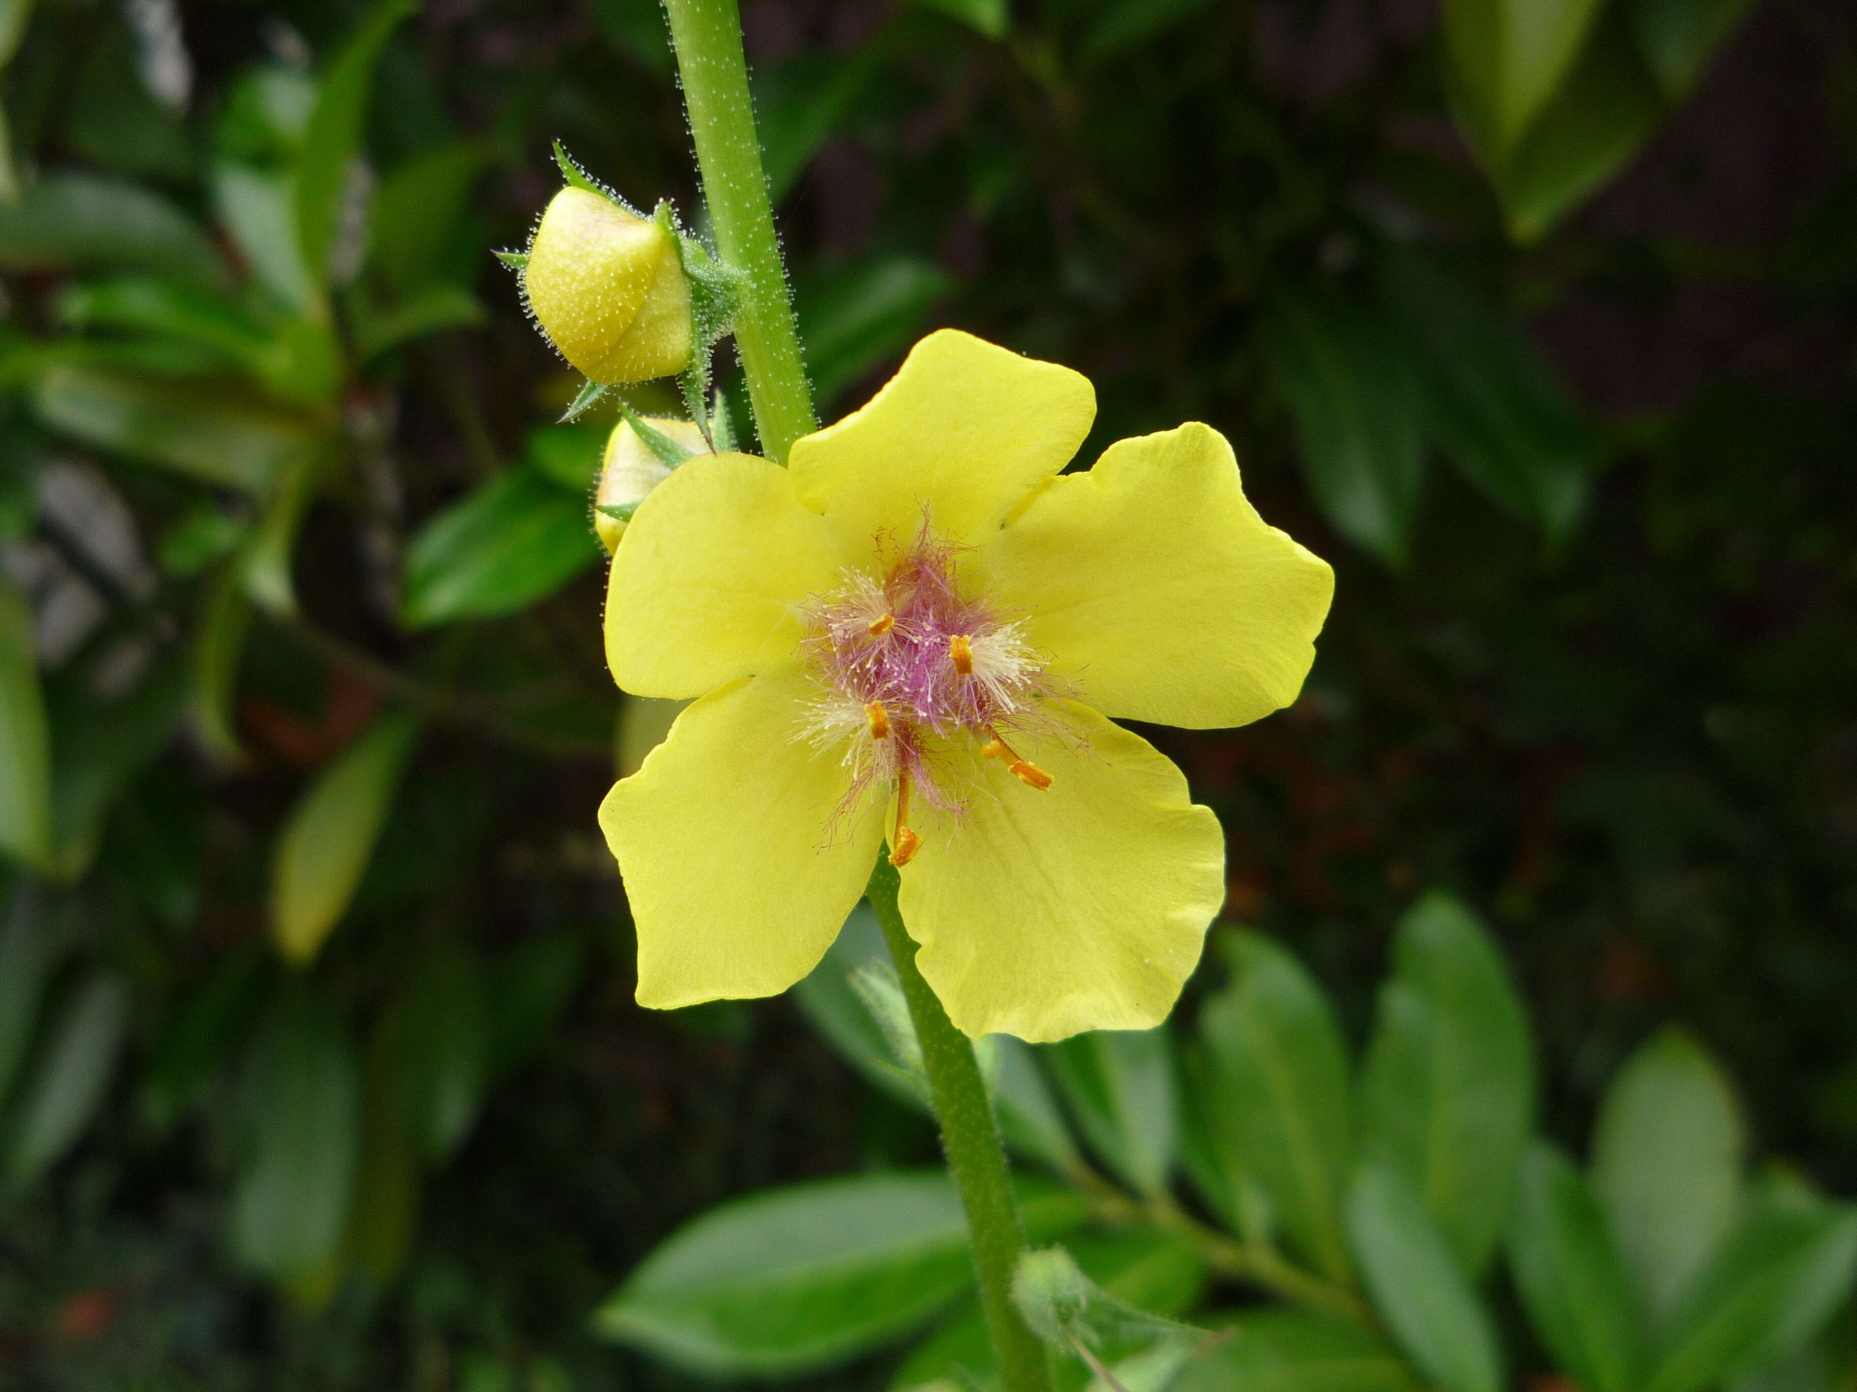
<svg viewBox="0 0 1857 1392">
<path fill-rule="evenodd" d="M 598 193 L 555 195 L 529 243 L 522 288 L 561 356 L 596 382 L 689 367 L 691 288 L 676 238 Z"/>
</svg>

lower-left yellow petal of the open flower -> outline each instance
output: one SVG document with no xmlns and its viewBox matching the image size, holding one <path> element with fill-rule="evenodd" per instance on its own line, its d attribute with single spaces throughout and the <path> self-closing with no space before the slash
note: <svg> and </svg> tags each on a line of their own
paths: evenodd
<svg viewBox="0 0 1857 1392">
<path fill-rule="evenodd" d="M 867 809 L 828 844 L 851 770 L 800 739 L 810 696 L 797 664 L 704 696 L 600 804 L 639 930 L 641 1006 L 786 991 L 864 893 L 882 822 Z"/>
</svg>

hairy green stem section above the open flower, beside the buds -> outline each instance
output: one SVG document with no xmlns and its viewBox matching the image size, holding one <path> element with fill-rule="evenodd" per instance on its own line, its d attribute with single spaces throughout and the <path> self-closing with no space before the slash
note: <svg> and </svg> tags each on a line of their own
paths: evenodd
<svg viewBox="0 0 1857 1392">
<path fill-rule="evenodd" d="M 748 63 L 735 0 L 665 0 L 683 104 L 696 139 L 704 199 L 722 260 L 748 278 L 735 316 L 735 351 L 748 379 L 761 453 L 780 464 L 802 434 L 819 429 L 806 360 L 793 323 L 787 267 L 754 134 Z"/>
</svg>

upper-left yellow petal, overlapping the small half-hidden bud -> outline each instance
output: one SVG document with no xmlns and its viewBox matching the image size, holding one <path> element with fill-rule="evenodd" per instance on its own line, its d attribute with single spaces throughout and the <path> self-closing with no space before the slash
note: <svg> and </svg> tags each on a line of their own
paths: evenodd
<svg viewBox="0 0 1857 1392">
<path fill-rule="evenodd" d="M 838 585 L 830 527 L 787 471 L 698 455 L 639 503 L 605 590 L 605 663 L 633 696 L 702 696 L 793 659 L 795 605 Z"/>
</svg>

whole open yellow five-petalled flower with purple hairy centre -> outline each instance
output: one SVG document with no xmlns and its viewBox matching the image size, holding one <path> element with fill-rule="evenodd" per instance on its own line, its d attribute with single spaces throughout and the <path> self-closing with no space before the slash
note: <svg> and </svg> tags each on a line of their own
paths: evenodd
<svg viewBox="0 0 1857 1392">
<path fill-rule="evenodd" d="M 969 1036 L 1159 1025 L 1224 900 L 1224 833 L 1112 724 L 1289 705 L 1330 568 L 1205 425 L 1058 475 L 1088 380 L 958 332 L 793 445 L 700 455 L 613 559 L 605 653 L 691 698 L 600 807 L 639 1002 L 784 991 L 886 839 L 917 965 Z"/>
</svg>

